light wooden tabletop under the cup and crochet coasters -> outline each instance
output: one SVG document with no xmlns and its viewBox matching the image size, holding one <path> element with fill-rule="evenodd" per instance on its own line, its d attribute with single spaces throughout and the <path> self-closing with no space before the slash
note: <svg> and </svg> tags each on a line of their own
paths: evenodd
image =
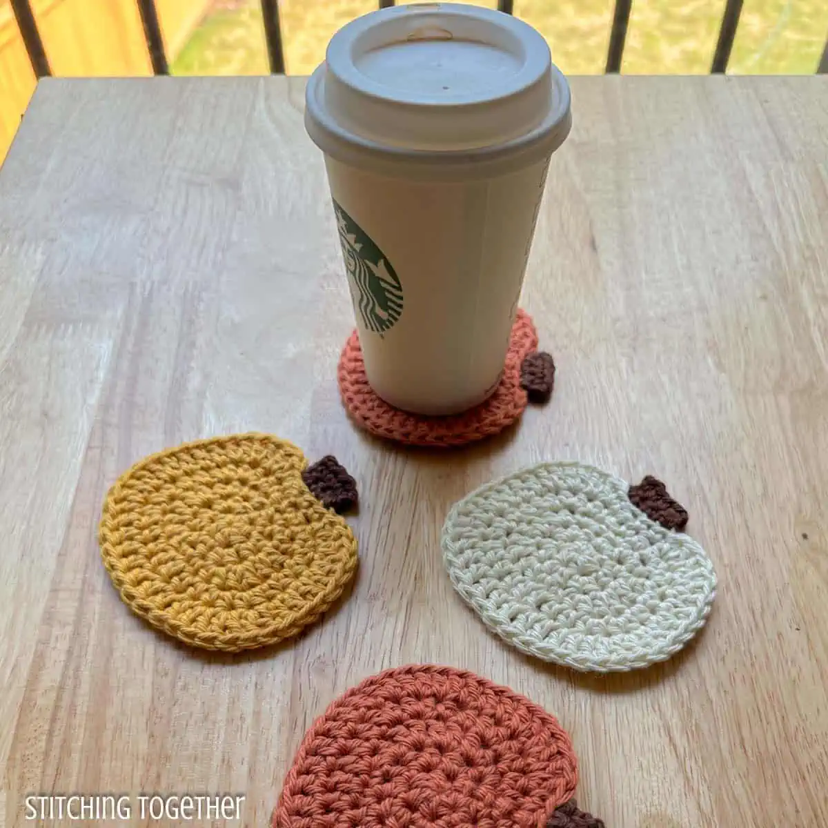
<svg viewBox="0 0 828 828">
<path fill-rule="evenodd" d="M 7 826 L 31 793 L 229 792 L 261 828 L 315 716 L 408 662 L 554 713 L 608 828 L 828 825 L 828 80 L 572 88 L 522 299 L 553 402 L 434 454 L 339 405 L 353 317 L 301 79 L 41 82 L 0 171 Z M 143 455 L 248 430 L 354 474 L 360 570 L 299 640 L 205 655 L 120 602 L 96 524 Z M 715 563 L 665 665 L 523 657 L 442 570 L 451 503 L 567 458 L 662 477 Z"/>
</svg>

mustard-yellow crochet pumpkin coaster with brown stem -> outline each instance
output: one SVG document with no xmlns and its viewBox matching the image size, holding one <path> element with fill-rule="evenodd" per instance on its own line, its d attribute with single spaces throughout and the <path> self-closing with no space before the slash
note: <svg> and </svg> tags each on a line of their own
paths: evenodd
<svg viewBox="0 0 828 828">
<path fill-rule="evenodd" d="M 318 498 L 318 499 L 317 499 Z M 289 638 L 354 577 L 357 542 L 327 506 L 356 501 L 332 457 L 248 434 L 142 460 L 103 503 L 99 541 L 121 598 L 194 647 L 234 652 Z"/>
</svg>

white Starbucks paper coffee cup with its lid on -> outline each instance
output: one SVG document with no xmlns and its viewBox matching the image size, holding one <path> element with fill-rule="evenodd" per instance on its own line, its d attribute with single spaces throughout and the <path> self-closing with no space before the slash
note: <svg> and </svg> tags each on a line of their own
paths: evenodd
<svg viewBox="0 0 828 828">
<path fill-rule="evenodd" d="M 570 90 L 532 26 L 455 3 L 359 17 L 311 76 L 368 383 L 445 415 L 498 386 Z"/>
</svg>

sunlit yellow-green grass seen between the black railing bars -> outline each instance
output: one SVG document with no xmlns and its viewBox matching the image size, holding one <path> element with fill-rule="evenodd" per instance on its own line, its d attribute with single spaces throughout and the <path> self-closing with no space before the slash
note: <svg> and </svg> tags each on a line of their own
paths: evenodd
<svg viewBox="0 0 828 828">
<path fill-rule="evenodd" d="M 493 0 L 479 2 L 492 7 Z M 310 74 L 334 31 L 376 7 L 371 0 L 282 0 L 286 68 Z M 571 75 L 604 70 L 613 0 L 515 0 L 515 13 L 549 41 L 556 64 Z M 724 0 L 633 2 L 622 71 L 705 74 L 715 49 Z M 825 0 L 746 0 L 729 71 L 750 75 L 811 74 L 826 35 Z M 217 3 L 171 66 L 174 75 L 267 73 L 262 12 L 256 0 Z"/>
</svg>

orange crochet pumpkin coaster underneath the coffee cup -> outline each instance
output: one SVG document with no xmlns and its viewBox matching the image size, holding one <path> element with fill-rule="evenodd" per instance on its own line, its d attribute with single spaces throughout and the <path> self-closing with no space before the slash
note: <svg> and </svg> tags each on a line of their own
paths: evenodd
<svg viewBox="0 0 828 828">
<path fill-rule="evenodd" d="M 493 395 L 467 412 L 421 416 L 388 405 L 373 392 L 354 330 L 339 358 L 339 392 L 357 425 L 371 434 L 407 445 L 450 447 L 483 440 L 511 426 L 527 400 L 546 402 L 555 381 L 555 363 L 537 353 L 537 332 L 525 310 L 517 310 L 503 377 Z"/>
</svg>

